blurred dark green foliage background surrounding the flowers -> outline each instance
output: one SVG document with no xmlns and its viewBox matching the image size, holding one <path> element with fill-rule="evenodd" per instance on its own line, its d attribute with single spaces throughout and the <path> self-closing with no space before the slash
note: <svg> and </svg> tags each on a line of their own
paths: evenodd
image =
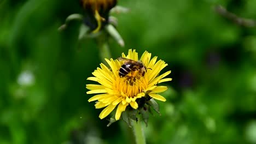
<svg viewBox="0 0 256 144">
<path fill-rule="evenodd" d="M 147 143 L 256 143 L 256 29 L 236 25 L 216 4 L 256 18 L 256 1 L 119 1 L 120 47 L 168 63 L 173 81 Z M 0 143 L 133 143 L 124 121 L 106 127 L 88 103 L 86 78 L 101 63 L 94 40 L 78 43 L 79 22 L 58 32 L 78 1 L 0 0 Z"/>
</svg>

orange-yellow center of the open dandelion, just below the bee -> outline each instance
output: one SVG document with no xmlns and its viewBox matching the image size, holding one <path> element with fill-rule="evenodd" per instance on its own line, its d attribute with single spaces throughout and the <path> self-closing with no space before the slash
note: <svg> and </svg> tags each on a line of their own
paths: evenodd
<svg viewBox="0 0 256 144">
<path fill-rule="evenodd" d="M 146 76 L 124 76 L 118 77 L 115 88 L 123 97 L 133 98 L 142 93 L 147 88 L 148 82 Z"/>
</svg>

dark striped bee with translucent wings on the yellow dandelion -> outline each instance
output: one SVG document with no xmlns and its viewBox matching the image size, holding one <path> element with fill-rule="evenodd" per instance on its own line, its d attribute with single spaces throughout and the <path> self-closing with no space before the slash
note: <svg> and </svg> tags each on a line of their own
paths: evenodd
<svg viewBox="0 0 256 144">
<path fill-rule="evenodd" d="M 119 69 L 119 76 L 136 77 L 138 75 L 145 75 L 146 67 L 142 62 L 133 61 L 132 59 L 119 57 L 119 61 L 124 61 L 124 64 Z M 130 73 L 131 72 L 131 73 Z"/>
</svg>

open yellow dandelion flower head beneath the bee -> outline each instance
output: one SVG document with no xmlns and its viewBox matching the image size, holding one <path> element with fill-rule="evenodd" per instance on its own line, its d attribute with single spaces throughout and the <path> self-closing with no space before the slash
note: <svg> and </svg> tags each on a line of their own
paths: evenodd
<svg viewBox="0 0 256 144">
<path fill-rule="evenodd" d="M 122 53 L 122 57 L 138 61 L 138 53 L 135 50 L 129 50 L 127 56 Z M 100 113 L 99 117 L 101 119 L 108 116 L 117 107 L 115 119 L 119 120 L 121 113 L 125 111 L 127 106 L 138 109 L 138 100 L 146 97 L 146 95 L 160 101 L 166 101 L 158 93 L 166 91 L 167 87 L 158 86 L 158 83 L 171 81 L 171 78 L 163 79 L 171 71 L 159 75 L 167 64 L 162 60 L 156 62 L 156 59 L 156 56 L 151 59 L 151 53 L 145 51 L 140 59 L 146 67 L 144 73 L 139 73 L 139 69 L 137 69 L 136 73 L 127 71 L 129 74 L 126 76 L 120 76 L 119 74 L 119 69 L 124 64 L 123 61 L 105 59 L 110 69 L 101 63 L 101 68 L 97 68 L 92 73 L 95 77 L 88 77 L 88 80 L 100 83 L 100 85 L 86 85 L 86 88 L 90 89 L 87 94 L 97 94 L 88 100 L 89 102 L 97 100 L 96 109 L 106 107 Z"/>
</svg>

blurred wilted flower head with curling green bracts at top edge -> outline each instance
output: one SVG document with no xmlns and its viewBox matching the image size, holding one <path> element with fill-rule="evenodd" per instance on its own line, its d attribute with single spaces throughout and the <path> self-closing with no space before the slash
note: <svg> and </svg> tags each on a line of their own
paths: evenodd
<svg viewBox="0 0 256 144">
<path fill-rule="evenodd" d="M 118 20 L 110 13 L 127 13 L 129 9 L 116 6 L 117 0 L 80 0 L 85 14 L 71 14 L 67 17 L 65 23 L 58 28 L 63 31 L 67 28 L 69 22 L 73 20 L 83 21 L 79 28 L 78 40 L 99 38 L 106 32 L 120 46 L 124 46 L 124 40 L 115 28 Z M 104 32 L 102 31 L 104 30 Z M 103 33 L 102 33 L 103 32 Z M 101 39 L 101 38 L 100 38 Z M 105 41 L 106 42 L 106 41 Z"/>
</svg>

